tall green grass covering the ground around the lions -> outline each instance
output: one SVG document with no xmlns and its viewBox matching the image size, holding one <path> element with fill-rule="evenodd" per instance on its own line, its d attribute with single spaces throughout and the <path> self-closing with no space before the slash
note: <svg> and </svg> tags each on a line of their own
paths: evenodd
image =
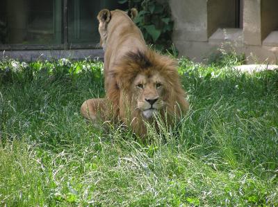
<svg viewBox="0 0 278 207">
<path fill-rule="evenodd" d="M 278 72 L 179 64 L 188 116 L 146 144 L 79 114 L 101 63 L 1 62 L 0 205 L 278 206 Z"/>
</svg>

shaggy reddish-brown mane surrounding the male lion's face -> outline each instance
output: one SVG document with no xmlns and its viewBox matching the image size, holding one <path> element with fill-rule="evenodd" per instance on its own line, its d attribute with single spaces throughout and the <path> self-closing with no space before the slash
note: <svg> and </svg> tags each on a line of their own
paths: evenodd
<svg viewBox="0 0 278 207">
<path fill-rule="evenodd" d="M 131 123 L 133 130 L 138 134 L 145 134 L 146 120 L 142 120 L 139 110 L 136 110 L 136 97 L 131 87 L 138 73 L 158 71 L 166 80 L 164 82 L 164 94 L 162 99 L 166 102 L 166 108 L 160 111 L 161 118 L 167 118 L 167 124 L 171 125 L 176 118 L 180 118 L 188 110 L 186 93 L 181 87 L 177 63 L 165 55 L 160 55 L 151 49 L 144 53 L 141 51 L 129 52 L 115 64 L 110 71 L 115 78 L 117 86 L 107 91 L 107 96 L 113 102 L 114 116 L 120 117 L 126 124 Z M 151 122 L 154 119 L 151 120 Z"/>
</svg>

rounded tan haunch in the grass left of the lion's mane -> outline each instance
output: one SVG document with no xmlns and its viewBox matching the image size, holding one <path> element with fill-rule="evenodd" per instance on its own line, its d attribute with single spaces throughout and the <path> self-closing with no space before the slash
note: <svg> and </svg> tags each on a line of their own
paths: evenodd
<svg viewBox="0 0 278 207">
<path fill-rule="evenodd" d="M 81 105 L 81 114 L 92 120 L 92 123 L 97 124 L 99 120 L 104 121 L 104 108 L 105 108 L 105 98 L 92 98 L 85 100 Z"/>
</svg>

